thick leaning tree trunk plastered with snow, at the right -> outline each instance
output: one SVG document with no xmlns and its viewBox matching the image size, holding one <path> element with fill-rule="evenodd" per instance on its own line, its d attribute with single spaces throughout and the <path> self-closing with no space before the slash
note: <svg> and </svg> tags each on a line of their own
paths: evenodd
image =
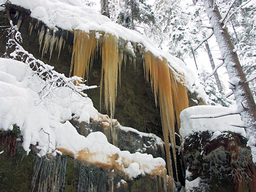
<svg viewBox="0 0 256 192">
<path fill-rule="evenodd" d="M 244 122 L 247 145 L 251 147 L 253 162 L 256 163 L 256 105 L 252 93 L 246 83 L 246 78 L 236 52 L 233 52 L 234 46 L 223 23 L 220 22 L 221 15 L 214 0 L 204 0 L 204 6 L 213 26 L 213 32 L 216 37 L 221 55 L 224 58 L 224 65 L 227 68 L 227 74 L 230 79 L 231 89 L 233 90 L 238 105 L 238 111 Z"/>
</svg>

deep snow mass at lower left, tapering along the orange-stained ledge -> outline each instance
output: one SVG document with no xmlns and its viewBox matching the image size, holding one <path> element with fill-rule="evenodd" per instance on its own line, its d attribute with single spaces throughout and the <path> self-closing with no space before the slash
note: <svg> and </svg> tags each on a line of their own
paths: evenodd
<svg viewBox="0 0 256 192">
<path fill-rule="evenodd" d="M 17 124 L 27 154 L 32 144 L 36 145 L 38 156 L 69 151 L 73 157 L 89 163 L 111 166 L 114 162 L 130 178 L 164 173 L 166 163 L 160 157 L 120 151 L 108 143 L 102 132 L 80 135 L 68 120 L 75 114 L 79 121 L 97 121 L 99 113 L 91 100 L 73 94 L 68 87 L 55 87 L 52 96 L 41 101 L 38 93 L 44 83 L 32 74 L 27 64 L 0 58 L 0 129 L 12 130 L 12 125 Z M 88 157 L 81 159 L 83 155 Z"/>
</svg>

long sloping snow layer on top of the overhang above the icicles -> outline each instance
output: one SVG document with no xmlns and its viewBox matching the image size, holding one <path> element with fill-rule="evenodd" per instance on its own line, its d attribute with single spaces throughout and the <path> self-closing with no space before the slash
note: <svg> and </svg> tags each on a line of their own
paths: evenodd
<svg viewBox="0 0 256 192">
<path fill-rule="evenodd" d="M 5 3 L 5 1 L 0 0 L 0 4 Z M 139 32 L 113 23 L 108 17 L 84 7 L 79 0 L 10 0 L 10 2 L 29 9 L 31 17 L 41 20 L 51 29 L 59 27 L 69 31 L 75 29 L 85 32 L 89 32 L 89 30 L 104 31 L 116 35 L 117 38 L 120 37 L 125 41 L 143 44 L 145 49 L 152 52 L 156 57 L 160 59 L 162 57 L 167 58 L 170 68 L 172 70 L 175 69 L 173 71 L 176 74 L 177 81 L 183 82 L 178 73 L 183 74 L 186 80 L 185 85 L 188 89 L 192 93 L 196 91 L 198 94 L 201 94 L 203 96 L 202 99 L 205 97 L 204 90 L 200 87 L 198 89 L 195 73 L 189 70 L 183 61 L 157 48 L 152 41 L 145 38 Z"/>
</svg>

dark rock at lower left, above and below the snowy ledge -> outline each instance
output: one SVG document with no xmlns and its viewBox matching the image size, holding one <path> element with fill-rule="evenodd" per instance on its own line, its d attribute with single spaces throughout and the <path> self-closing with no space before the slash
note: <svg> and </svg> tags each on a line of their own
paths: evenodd
<svg viewBox="0 0 256 192">
<path fill-rule="evenodd" d="M 106 119 L 105 119 L 106 120 Z M 71 120 L 81 135 L 87 136 L 92 131 L 102 131 L 110 143 L 115 143 L 121 150 L 131 153 L 141 152 L 154 157 L 165 157 L 163 141 L 154 134 L 145 134 L 131 129 L 121 130 L 118 126 L 109 129 L 102 122 L 77 122 Z M 18 129 L 17 129 L 18 130 Z M 134 131 L 135 132 L 134 132 Z M 21 147 L 19 132 L 0 132 L 0 189 L 7 191 L 165 191 L 166 179 L 151 175 L 140 175 L 129 179 L 121 172 L 114 172 L 108 167 L 84 164 L 67 155 L 57 154 L 38 157 L 37 149 L 31 145 L 29 155 Z M 4 142 L 4 143 L 3 143 Z M 11 144 L 10 144 L 11 143 Z M 13 146 L 15 151 L 12 150 Z M 17 148 L 17 150 L 16 150 Z M 11 156 L 12 155 L 12 156 Z M 17 182 L 16 182 L 17 181 Z M 22 185 L 20 185 L 22 183 Z"/>
</svg>

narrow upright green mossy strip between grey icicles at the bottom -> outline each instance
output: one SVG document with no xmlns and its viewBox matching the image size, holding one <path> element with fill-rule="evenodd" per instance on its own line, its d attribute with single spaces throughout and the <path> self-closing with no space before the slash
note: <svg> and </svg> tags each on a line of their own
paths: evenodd
<svg viewBox="0 0 256 192">
<path fill-rule="evenodd" d="M 65 174 L 65 191 L 66 192 L 76 191 L 77 182 L 78 182 L 77 168 L 75 167 L 73 158 L 67 156 L 67 166 L 66 166 L 66 174 Z"/>
</svg>

